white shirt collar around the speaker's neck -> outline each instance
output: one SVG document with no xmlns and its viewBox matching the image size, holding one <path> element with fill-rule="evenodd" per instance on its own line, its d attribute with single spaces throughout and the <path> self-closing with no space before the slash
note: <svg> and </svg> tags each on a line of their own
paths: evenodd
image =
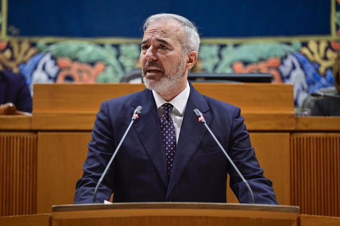
<svg viewBox="0 0 340 226">
<path fill-rule="evenodd" d="M 183 115 L 185 107 L 189 99 L 190 85 L 189 85 L 189 82 L 187 81 L 187 86 L 185 87 L 185 89 L 182 92 L 180 92 L 175 98 L 173 98 L 170 102 L 167 102 L 166 100 L 164 100 L 161 97 L 161 95 L 159 95 L 154 90 L 152 90 L 152 94 L 153 94 L 153 97 L 155 98 L 157 109 L 159 109 L 165 103 L 170 103 L 178 111 L 178 113 Z"/>
</svg>

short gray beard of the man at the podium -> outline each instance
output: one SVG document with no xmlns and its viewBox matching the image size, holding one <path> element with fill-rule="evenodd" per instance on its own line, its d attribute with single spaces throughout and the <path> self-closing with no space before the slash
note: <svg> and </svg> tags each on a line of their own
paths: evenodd
<svg viewBox="0 0 340 226">
<path fill-rule="evenodd" d="M 150 85 L 146 76 L 142 73 L 142 80 L 145 87 L 150 90 L 154 90 L 158 93 L 165 93 L 171 89 L 174 89 L 176 85 L 181 81 L 185 74 L 185 60 L 182 57 L 182 61 L 176 65 L 176 71 L 173 74 L 164 74 L 164 76 L 155 84 Z"/>
</svg>

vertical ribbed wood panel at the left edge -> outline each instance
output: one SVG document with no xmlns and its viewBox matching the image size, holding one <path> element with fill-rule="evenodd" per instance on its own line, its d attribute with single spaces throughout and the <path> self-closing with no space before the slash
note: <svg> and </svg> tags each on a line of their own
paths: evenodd
<svg viewBox="0 0 340 226">
<path fill-rule="evenodd" d="M 36 213 L 37 135 L 0 133 L 0 216 Z"/>
</svg>

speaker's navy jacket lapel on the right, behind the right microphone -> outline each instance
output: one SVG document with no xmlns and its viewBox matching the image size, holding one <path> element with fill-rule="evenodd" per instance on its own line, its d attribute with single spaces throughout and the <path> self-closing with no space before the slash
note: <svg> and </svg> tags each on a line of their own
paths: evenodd
<svg viewBox="0 0 340 226">
<path fill-rule="evenodd" d="M 176 154 L 169 181 L 167 198 L 169 197 L 177 180 L 190 162 L 197 147 L 201 143 L 204 134 L 206 133 L 205 126 L 198 122 L 196 116 L 193 113 L 194 109 L 196 108 L 204 113 L 204 118 L 207 121 L 207 124 L 209 124 L 209 107 L 206 104 L 204 97 L 190 84 L 190 95 L 183 116 L 183 122 L 181 125 Z"/>
</svg>

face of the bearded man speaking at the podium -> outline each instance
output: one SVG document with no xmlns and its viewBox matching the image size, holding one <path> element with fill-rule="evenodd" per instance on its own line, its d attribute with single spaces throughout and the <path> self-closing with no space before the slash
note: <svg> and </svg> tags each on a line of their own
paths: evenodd
<svg viewBox="0 0 340 226">
<path fill-rule="evenodd" d="M 182 28 L 173 20 L 154 22 L 145 30 L 140 62 L 147 88 L 162 93 L 186 83 L 186 55 L 182 54 L 181 37 Z"/>
</svg>

